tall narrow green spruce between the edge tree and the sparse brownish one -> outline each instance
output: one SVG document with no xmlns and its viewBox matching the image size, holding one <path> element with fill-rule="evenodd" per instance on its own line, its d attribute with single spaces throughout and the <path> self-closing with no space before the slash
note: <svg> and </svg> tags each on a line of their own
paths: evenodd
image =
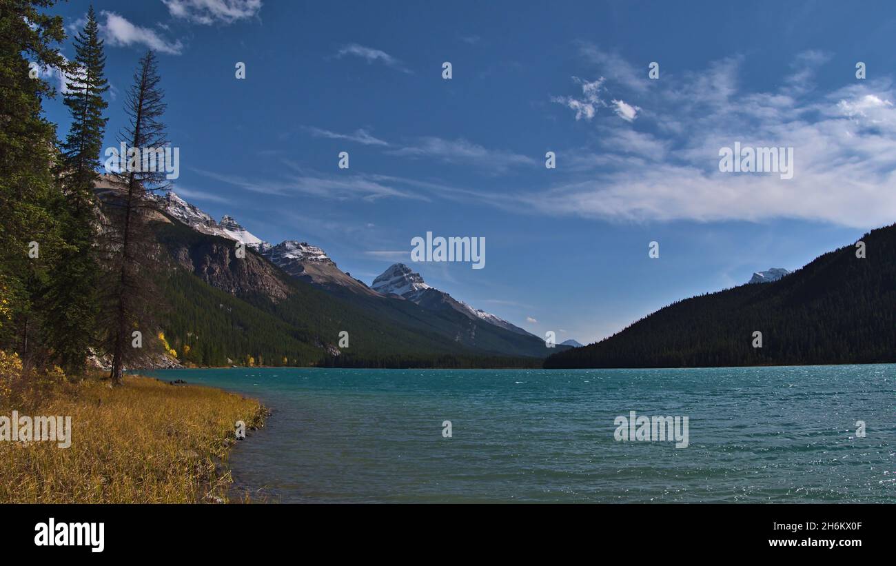
<svg viewBox="0 0 896 566">
<path fill-rule="evenodd" d="M 94 183 L 108 106 L 103 93 L 106 56 L 99 39 L 93 6 L 84 29 L 74 38 L 75 58 L 65 79 L 65 106 L 72 126 L 63 144 L 61 180 L 63 194 L 57 207 L 66 250 L 50 273 L 47 290 L 47 342 L 67 373 L 82 373 L 95 338 L 99 314 L 99 266 L 94 251 L 97 207 Z"/>
</svg>

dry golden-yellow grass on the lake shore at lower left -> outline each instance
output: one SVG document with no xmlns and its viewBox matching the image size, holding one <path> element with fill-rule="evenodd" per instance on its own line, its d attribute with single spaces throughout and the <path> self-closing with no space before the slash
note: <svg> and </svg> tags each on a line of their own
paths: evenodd
<svg viewBox="0 0 896 566">
<path fill-rule="evenodd" d="M 10 407 L 0 415 L 12 416 Z M 0 502 L 226 502 L 234 424 L 262 425 L 253 399 L 129 376 L 66 384 L 20 415 L 72 416 L 72 445 L 0 442 Z"/>
</svg>

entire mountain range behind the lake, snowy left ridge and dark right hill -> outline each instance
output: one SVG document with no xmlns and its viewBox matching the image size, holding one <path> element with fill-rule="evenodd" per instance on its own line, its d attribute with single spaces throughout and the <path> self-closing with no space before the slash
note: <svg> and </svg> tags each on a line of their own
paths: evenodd
<svg viewBox="0 0 896 566">
<path fill-rule="evenodd" d="M 100 184 L 100 193 L 115 194 Z M 154 232 L 172 267 L 162 330 L 188 364 L 358 367 L 695 367 L 896 362 L 896 225 L 795 272 L 695 296 L 589 346 L 544 340 L 395 263 L 371 285 L 320 247 L 269 244 L 177 194 Z M 246 244 L 245 258 L 236 242 Z M 238 261 L 237 261 L 238 260 Z M 762 283 L 756 285 L 754 283 Z M 762 344 L 756 347 L 756 333 Z M 350 346 L 341 345 L 343 333 Z M 548 356 L 550 355 L 550 356 Z M 545 356 L 548 356 L 545 359 Z"/>
</svg>

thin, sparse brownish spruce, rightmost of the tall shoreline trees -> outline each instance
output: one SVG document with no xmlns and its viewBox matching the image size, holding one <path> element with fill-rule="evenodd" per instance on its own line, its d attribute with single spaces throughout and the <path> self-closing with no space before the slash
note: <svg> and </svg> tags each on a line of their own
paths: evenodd
<svg viewBox="0 0 896 566">
<path fill-rule="evenodd" d="M 128 91 L 125 113 L 129 124 L 118 136 L 128 150 L 127 166 L 116 173 L 117 193 L 107 203 L 108 224 L 103 230 L 103 251 L 107 265 L 106 300 L 102 328 L 108 330 L 106 345 L 112 354 L 110 378 L 122 382 L 125 364 L 136 359 L 140 350 L 134 347 L 134 331 L 140 331 L 149 346 L 155 324 L 151 314 L 158 294 L 153 278 L 159 270 L 158 250 L 149 222 L 154 213 L 151 193 L 164 188 L 164 170 L 146 170 L 143 150 L 158 150 L 168 144 L 165 124 L 160 121 L 165 111 L 163 93 L 159 89 L 156 56 L 148 51 L 134 73 L 134 84 Z M 132 152 L 134 152 L 132 154 Z"/>
</svg>

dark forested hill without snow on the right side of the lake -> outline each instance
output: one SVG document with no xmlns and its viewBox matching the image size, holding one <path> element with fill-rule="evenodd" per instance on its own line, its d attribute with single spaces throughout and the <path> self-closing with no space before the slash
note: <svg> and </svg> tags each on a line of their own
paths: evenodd
<svg viewBox="0 0 896 566">
<path fill-rule="evenodd" d="M 896 362 L 896 224 L 787 277 L 670 304 L 548 368 Z M 754 347 L 754 332 L 762 347 Z"/>
</svg>

